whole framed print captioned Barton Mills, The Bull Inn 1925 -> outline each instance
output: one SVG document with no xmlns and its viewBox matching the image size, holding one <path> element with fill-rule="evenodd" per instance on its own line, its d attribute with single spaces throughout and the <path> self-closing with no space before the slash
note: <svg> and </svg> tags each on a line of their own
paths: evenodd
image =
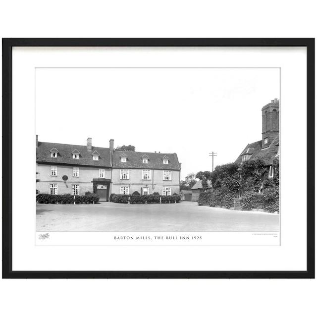
<svg viewBox="0 0 317 317">
<path fill-rule="evenodd" d="M 314 39 L 3 39 L 4 278 L 314 278 Z"/>
</svg>

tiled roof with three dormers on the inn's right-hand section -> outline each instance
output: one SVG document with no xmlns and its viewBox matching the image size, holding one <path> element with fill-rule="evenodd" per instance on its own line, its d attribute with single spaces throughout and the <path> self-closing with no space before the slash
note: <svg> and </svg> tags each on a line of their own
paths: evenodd
<svg viewBox="0 0 317 317">
<path fill-rule="evenodd" d="M 125 154 L 127 161 L 121 162 L 120 157 Z M 143 163 L 143 156 L 148 156 L 148 163 Z M 168 156 L 168 164 L 163 164 L 163 157 Z M 149 168 L 149 169 L 172 169 L 180 170 L 180 163 L 176 153 L 149 153 L 114 151 L 113 167 L 116 168 Z"/>
</svg>

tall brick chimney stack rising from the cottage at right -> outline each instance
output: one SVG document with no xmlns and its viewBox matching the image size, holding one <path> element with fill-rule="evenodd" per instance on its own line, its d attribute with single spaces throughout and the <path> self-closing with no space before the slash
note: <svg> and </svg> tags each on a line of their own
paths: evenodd
<svg viewBox="0 0 317 317">
<path fill-rule="evenodd" d="M 262 149 L 270 146 L 279 133 L 279 100 L 274 99 L 262 108 Z"/>
</svg>

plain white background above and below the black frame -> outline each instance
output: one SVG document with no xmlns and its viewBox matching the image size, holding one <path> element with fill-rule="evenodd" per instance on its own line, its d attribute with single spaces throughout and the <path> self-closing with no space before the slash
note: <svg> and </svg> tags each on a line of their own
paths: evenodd
<svg viewBox="0 0 317 317">
<path fill-rule="evenodd" d="M 1 37 L 316 37 L 313 1 L 10 1 Z M 300 104 L 300 101 L 299 101 Z M 315 280 L 5 280 L 5 316 L 305 316 Z"/>
</svg>

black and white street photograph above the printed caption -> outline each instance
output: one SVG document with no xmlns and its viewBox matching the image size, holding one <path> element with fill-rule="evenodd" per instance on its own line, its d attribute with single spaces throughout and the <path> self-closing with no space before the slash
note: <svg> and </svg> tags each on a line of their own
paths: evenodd
<svg viewBox="0 0 317 317">
<path fill-rule="evenodd" d="M 279 232 L 279 68 L 44 67 L 35 86 L 37 232 Z"/>
</svg>

